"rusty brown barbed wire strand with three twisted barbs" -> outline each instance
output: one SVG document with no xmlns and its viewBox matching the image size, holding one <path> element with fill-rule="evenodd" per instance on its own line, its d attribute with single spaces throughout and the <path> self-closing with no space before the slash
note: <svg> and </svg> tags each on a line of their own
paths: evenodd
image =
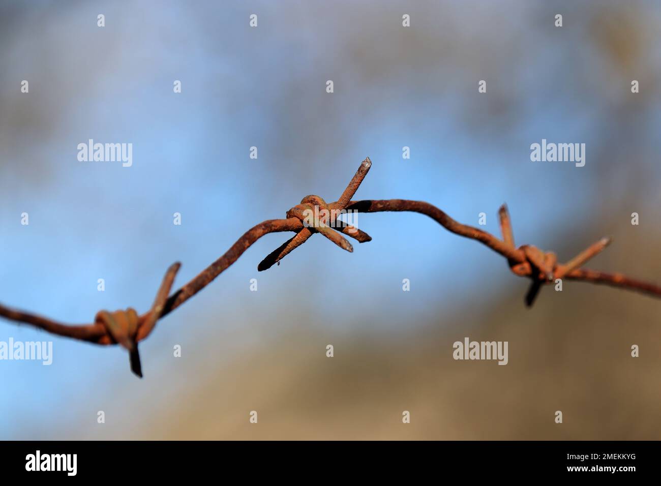
<svg viewBox="0 0 661 486">
<path fill-rule="evenodd" d="M 354 250 L 343 235 L 350 236 L 359 243 L 371 241 L 371 237 L 367 233 L 338 219 L 338 215 L 341 214 L 342 210 L 362 213 L 417 212 L 429 216 L 448 231 L 451 231 L 451 233 L 483 243 L 496 253 L 505 257 L 510 270 L 515 275 L 531 280 L 529 290 L 525 295 L 525 304 L 528 306 L 533 304 L 537 294 L 539 294 L 539 290 L 545 284 L 550 284 L 557 279 L 563 278 L 594 284 L 605 284 L 661 298 L 661 286 L 656 284 L 635 280 L 620 273 L 609 274 L 580 268 L 611 243 L 611 239 L 609 238 L 600 239 L 600 241 L 590 245 L 590 247 L 564 264 L 558 263 L 555 253 L 542 251 L 533 245 L 522 245 L 517 248 L 514 245 L 512 222 L 510 221 L 510 215 L 505 204 L 498 210 L 502 233 L 501 240 L 482 229 L 456 222 L 447 216 L 445 212 L 428 202 L 404 199 L 351 200 L 354 194 L 356 194 L 356 190 L 358 190 L 361 182 L 365 179 L 370 167 L 371 160 L 367 157 L 362 161 L 360 167 L 358 167 L 358 171 L 356 171 L 356 174 L 352 177 L 348 186 L 346 186 L 346 189 L 340 195 L 340 198 L 335 202 L 327 204 L 319 196 L 305 196 L 300 204 L 293 206 L 286 213 L 286 219 L 266 220 L 254 225 L 219 259 L 169 296 L 176 273 L 180 268 L 180 263 L 172 264 L 163 277 L 151 309 L 142 315 L 138 315 L 131 307 L 126 309 L 126 311 L 118 310 L 112 313 L 102 310 L 98 311 L 94 323 L 67 325 L 40 315 L 11 309 L 0 304 L 0 316 L 11 321 L 32 325 L 58 336 L 70 337 L 95 344 L 120 344 L 130 353 L 132 372 L 141 378 L 142 370 L 137 344 L 151 334 L 159 319 L 171 313 L 210 284 L 262 236 L 268 233 L 280 233 L 284 231 L 293 231 L 296 233 L 292 238 L 272 251 L 272 253 L 269 253 L 258 264 L 257 270 L 259 271 L 267 270 L 276 263 L 280 264 L 280 261 L 286 255 L 305 243 L 315 233 L 327 237 L 338 245 L 338 247 L 348 252 Z M 315 211 L 315 206 L 318 211 Z M 314 216 L 310 216 L 311 214 Z M 312 225 L 309 224 L 309 220 L 312 221 Z"/>
</svg>

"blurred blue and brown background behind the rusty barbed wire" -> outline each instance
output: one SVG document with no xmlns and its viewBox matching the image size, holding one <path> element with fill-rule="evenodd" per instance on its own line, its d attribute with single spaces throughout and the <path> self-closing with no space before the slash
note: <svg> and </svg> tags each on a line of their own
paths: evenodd
<svg viewBox="0 0 661 486">
<path fill-rule="evenodd" d="M 612 235 L 590 267 L 661 280 L 657 2 L 0 5 L 5 305 L 143 312 L 169 264 L 178 288 L 303 196 L 335 200 L 366 156 L 356 199 L 485 212 L 495 233 L 507 202 L 517 245 L 568 260 Z M 133 143 L 132 167 L 79 162 L 90 138 Z M 585 167 L 532 163 L 542 138 L 586 143 Z M 143 380 L 117 346 L 1 321 L 54 357 L 0 362 L 0 438 L 661 438 L 660 301 L 567 281 L 526 309 L 527 280 L 426 216 L 358 226 L 354 253 L 317 236 L 266 272 L 291 234 L 260 239 L 159 321 Z M 464 337 L 508 341 L 508 365 L 453 360 Z"/>
</svg>

